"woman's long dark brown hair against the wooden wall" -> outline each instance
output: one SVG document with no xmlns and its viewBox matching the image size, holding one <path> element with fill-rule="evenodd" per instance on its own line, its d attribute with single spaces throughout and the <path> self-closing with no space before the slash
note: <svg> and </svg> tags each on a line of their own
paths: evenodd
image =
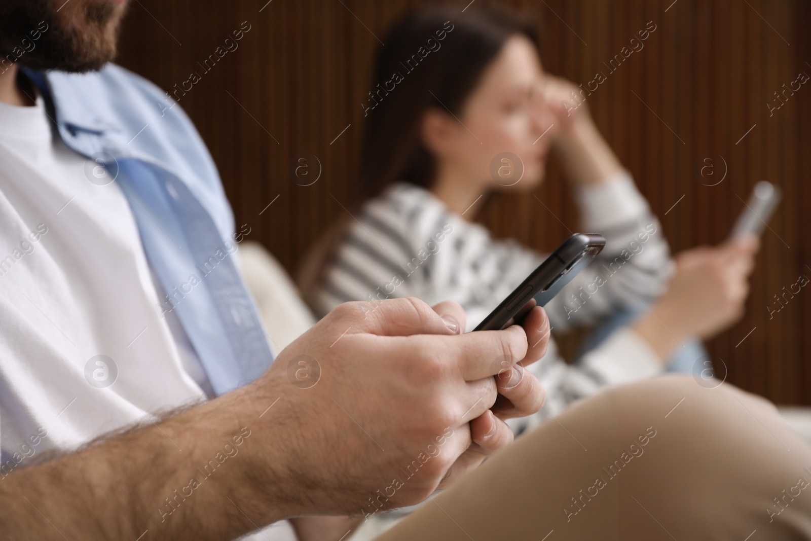
<svg viewBox="0 0 811 541">
<path fill-rule="evenodd" d="M 394 24 L 378 49 L 363 105 L 364 199 L 392 182 L 431 186 L 435 159 L 420 142 L 423 113 L 437 107 L 460 116 L 487 66 L 516 34 L 538 44 L 531 24 L 494 6 L 423 7 Z"/>
</svg>

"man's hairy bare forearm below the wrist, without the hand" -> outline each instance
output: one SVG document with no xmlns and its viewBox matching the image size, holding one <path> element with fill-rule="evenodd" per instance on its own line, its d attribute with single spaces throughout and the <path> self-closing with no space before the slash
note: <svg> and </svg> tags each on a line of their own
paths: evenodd
<svg viewBox="0 0 811 541">
<path fill-rule="evenodd" d="M 234 539 L 293 514 L 276 505 L 279 479 L 261 436 L 271 429 L 255 411 L 257 391 L 239 389 L 8 475 L 0 480 L 3 538 L 139 539 L 148 530 L 144 539 Z"/>
</svg>

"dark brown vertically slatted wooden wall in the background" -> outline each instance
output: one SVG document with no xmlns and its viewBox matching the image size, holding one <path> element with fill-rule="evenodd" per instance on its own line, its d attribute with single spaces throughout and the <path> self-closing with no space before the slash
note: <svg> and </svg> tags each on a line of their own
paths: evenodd
<svg viewBox="0 0 811 541">
<path fill-rule="evenodd" d="M 388 24 L 419 2 L 265 2 L 133 0 L 119 62 L 165 90 L 191 71 L 202 75 L 179 103 L 220 168 L 238 224 L 251 225 L 249 238 L 264 243 L 293 272 L 307 247 L 345 213 L 341 204 L 357 202 L 360 104 L 380 45 L 375 35 L 383 39 Z M 603 62 L 648 21 L 657 25 L 645 48 L 608 75 L 589 99 L 600 129 L 633 172 L 674 250 L 722 240 L 744 206 L 739 197 L 745 200 L 758 180 L 783 187 L 785 200 L 770 223 L 773 232 L 764 236 L 748 314 L 712 341 L 710 350 L 723 359 L 732 383 L 779 403 L 811 404 L 811 291 L 801 290 L 773 320 L 766 311 L 783 286 L 801 273 L 811 277 L 805 266 L 811 264 L 806 182 L 811 84 L 773 117 L 766 107 L 783 83 L 800 71 L 811 75 L 809 2 L 507 3 L 539 20 L 547 70 L 578 84 L 596 71 L 607 72 Z M 251 30 L 238 49 L 203 75 L 197 62 L 242 21 Z M 323 170 L 308 187 L 291 182 L 288 174 L 302 152 L 318 157 Z M 723 157 L 728 169 L 713 187 L 702 185 L 694 172 L 710 152 Z M 723 164 L 715 165 L 723 173 Z M 554 164 L 536 195 L 577 229 L 577 214 Z M 494 198 L 480 219 L 498 235 L 543 250 L 568 236 L 532 195 Z"/>
</svg>

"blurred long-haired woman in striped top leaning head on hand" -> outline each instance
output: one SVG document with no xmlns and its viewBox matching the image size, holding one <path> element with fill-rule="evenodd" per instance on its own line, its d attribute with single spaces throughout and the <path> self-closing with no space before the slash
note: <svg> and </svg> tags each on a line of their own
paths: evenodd
<svg viewBox="0 0 811 541">
<path fill-rule="evenodd" d="M 701 248 L 672 276 L 659 221 L 594 126 L 581 89 L 543 72 L 532 28 L 502 11 L 415 11 L 389 32 L 363 105 L 363 182 L 371 200 L 322 258 L 310 298 L 323 315 L 350 300 L 454 300 L 473 328 L 546 257 L 491 238 L 469 220 L 491 191 L 529 193 L 547 156 L 562 162 L 581 230 L 603 234 L 599 259 L 546 310 L 555 333 L 642 311 L 576 365 L 553 341 L 532 368 L 547 391 L 517 432 L 607 385 L 663 371 L 692 337 L 740 316 L 755 243 Z M 551 208 L 551 213 L 556 209 Z M 547 212 L 541 208 L 540 212 Z M 654 303 L 655 302 L 655 303 Z M 650 310 L 646 305 L 652 304 Z M 701 367 L 702 359 L 690 359 Z"/>
</svg>

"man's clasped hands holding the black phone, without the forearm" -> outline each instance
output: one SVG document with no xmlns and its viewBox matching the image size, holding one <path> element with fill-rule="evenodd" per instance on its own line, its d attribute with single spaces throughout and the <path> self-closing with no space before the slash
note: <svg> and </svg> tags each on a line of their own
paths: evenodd
<svg viewBox="0 0 811 541">
<path fill-rule="evenodd" d="M 414 504 L 508 444 L 502 419 L 539 410 L 543 390 L 521 367 L 498 388 L 493 376 L 504 359 L 543 355 L 546 316 L 532 312 L 526 331 L 459 334 L 465 323 L 456 303 L 345 303 L 285 348 L 252 384 L 268 404 L 278 399 L 266 422 L 280 431 L 273 459 L 289 473 L 285 500 L 300 513 Z"/>
</svg>

